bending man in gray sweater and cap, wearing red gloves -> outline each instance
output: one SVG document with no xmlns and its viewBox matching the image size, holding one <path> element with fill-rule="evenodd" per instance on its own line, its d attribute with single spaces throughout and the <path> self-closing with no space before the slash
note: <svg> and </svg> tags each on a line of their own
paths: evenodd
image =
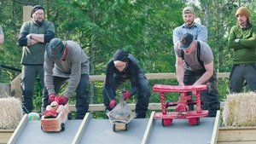
<svg viewBox="0 0 256 144">
<path fill-rule="evenodd" d="M 89 108 L 89 64 L 88 56 L 78 43 L 52 39 L 44 54 L 44 84 L 49 95 L 44 95 L 43 107 L 53 101 L 65 105 L 76 92 L 76 119 L 83 119 Z M 67 80 L 67 89 L 58 95 Z"/>
</svg>

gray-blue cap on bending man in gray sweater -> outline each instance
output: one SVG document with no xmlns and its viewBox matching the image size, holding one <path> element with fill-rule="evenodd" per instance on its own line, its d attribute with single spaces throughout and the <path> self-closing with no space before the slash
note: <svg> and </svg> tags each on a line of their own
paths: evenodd
<svg viewBox="0 0 256 144">
<path fill-rule="evenodd" d="M 64 54 L 65 45 L 61 38 L 53 38 L 49 44 L 46 45 L 46 52 L 50 60 L 61 60 Z"/>
</svg>

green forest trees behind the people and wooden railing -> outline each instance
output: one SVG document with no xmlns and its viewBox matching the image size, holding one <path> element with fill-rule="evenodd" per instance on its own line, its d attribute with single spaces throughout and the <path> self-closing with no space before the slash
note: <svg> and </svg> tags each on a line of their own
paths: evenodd
<svg viewBox="0 0 256 144">
<path fill-rule="evenodd" d="M 195 9 L 201 24 L 207 26 L 216 71 L 230 72 L 232 51 L 227 48 L 227 38 L 231 26 L 236 25 L 236 9 L 247 6 L 250 20 L 254 23 L 256 19 L 255 0 L 0 0 L 0 25 L 5 36 L 0 46 L 1 65 L 21 68 L 22 48 L 17 41 L 23 6 L 38 4 L 44 6 L 45 18 L 54 23 L 55 37 L 76 41 L 90 57 L 90 75 L 104 75 L 116 49 L 134 55 L 145 73 L 175 72 L 172 32 L 183 24 L 182 9 L 188 5 Z M 1 83 L 9 83 L 19 74 L 2 69 Z M 149 83 L 152 88 L 154 84 L 176 85 L 177 81 Z M 228 94 L 228 86 L 228 78 L 219 79 L 220 101 Z M 90 103 L 102 103 L 102 82 L 90 83 L 89 90 Z M 34 99 L 37 109 L 40 96 L 37 83 Z M 150 102 L 160 102 L 159 95 L 152 92 Z M 70 103 L 74 103 L 73 99 Z"/>
</svg>

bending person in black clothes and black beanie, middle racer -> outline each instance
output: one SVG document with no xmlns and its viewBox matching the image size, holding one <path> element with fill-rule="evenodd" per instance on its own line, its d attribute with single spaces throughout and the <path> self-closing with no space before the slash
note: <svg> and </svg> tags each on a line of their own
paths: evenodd
<svg viewBox="0 0 256 144">
<path fill-rule="evenodd" d="M 131 89 L 124 90 L 122 95 L 127 100 L 137 94 L 136 113 L 137 118 L 145 118 L 148 110 L 150 91 L 148 80 L 144 76 L 141 67 L 133 55 L 118 49 L 108 62 L 105 85 L 103 88 L 103 100 L 105 107 L 111 111 L 117 105 L 115 99 L 116 89 L 125 81 L 131 82 Z"/>
</svg>

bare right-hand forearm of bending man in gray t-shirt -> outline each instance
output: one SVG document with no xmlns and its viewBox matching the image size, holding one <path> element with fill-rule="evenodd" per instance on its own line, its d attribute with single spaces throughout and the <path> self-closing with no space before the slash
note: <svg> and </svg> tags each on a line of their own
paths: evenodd
<svg viewBox="0 0 256 144">
<path fill-rule="evenodd" d="M 213 60 L 207 65 L 204 65 L 206 72 L 199 78 L 194 85 L 205 84 L 209 78 L 212 77 L 213 74 Z"/>
</svg>

